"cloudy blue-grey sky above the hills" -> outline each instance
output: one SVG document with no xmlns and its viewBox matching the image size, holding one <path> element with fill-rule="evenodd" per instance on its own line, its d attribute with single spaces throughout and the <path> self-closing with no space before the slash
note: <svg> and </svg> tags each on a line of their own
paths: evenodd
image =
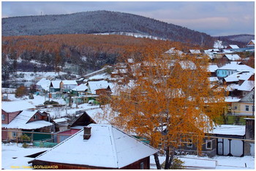
<svg viewBox="0 0 256 171">
<path fill-rule="evenodd" d="M 109 10 L 173 23 L 211 36 L 255 33 L 254 1 L 2 1 L 2 17 Z"/>
</svg>

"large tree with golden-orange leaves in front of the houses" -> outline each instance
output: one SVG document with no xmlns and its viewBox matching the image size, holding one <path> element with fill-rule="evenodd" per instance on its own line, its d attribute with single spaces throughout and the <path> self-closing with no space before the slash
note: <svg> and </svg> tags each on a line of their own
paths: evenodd
<svg viewBox="0 0 256 171">
<path fill-rule="evenodd" d="M 127 63 L 129 84 L 116 86 L 110 103 L 113 115 L 108 116 L 113 116 L 116 127 L 162 149 L 168 169 L 178 144 L 193 140 L 201 150 L 214 119 L 223 114 L 224 92 L 211 90 L 208 57 L 168 55 L 148 47 L 142 59 Z"/>
</svg>

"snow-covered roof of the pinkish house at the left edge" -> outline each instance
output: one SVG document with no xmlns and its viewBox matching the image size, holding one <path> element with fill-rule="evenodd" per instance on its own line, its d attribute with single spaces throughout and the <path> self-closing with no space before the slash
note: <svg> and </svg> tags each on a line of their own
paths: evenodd
<svg viewBox="0 0 256 171">
<path fill-rule="evenodd" d="M 26 109 L 36 108 L 31 103 L 24 100 L 15 100 L 11 102 L 1 102 L 1 109 L 6 112 L 23 111 Z"/>
</svg>

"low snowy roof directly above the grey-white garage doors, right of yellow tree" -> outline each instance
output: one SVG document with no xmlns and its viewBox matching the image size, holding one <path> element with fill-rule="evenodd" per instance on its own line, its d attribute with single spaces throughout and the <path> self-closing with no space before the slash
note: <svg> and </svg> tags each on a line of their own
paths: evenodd
<svg viewBox="0 0 256 171">
<path fill-rule="evenodd" d="M 214 127 L 214 130 L 210 131 L 211 134 L 218 135 L 245 135 L 244 125 L 230 125 L 221 124 L 218 127 Z"/>
</svg>

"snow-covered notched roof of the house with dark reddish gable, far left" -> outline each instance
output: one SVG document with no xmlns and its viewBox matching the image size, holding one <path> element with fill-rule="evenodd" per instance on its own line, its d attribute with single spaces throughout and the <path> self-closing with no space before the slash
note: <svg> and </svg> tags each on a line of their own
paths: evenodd
<svg viewBox="0 0 256 171">
<path fill-rule="evenodd" d="M 36 113 L 37 111 L 22 111 L 12 120 L 12 122 L 10 122 L 10 124 L 7 125 L 7 128 L 34 130 L 52 125 L 52 123 L 43 120 L 29 122 L 29 119 Z"/>
</svg>

